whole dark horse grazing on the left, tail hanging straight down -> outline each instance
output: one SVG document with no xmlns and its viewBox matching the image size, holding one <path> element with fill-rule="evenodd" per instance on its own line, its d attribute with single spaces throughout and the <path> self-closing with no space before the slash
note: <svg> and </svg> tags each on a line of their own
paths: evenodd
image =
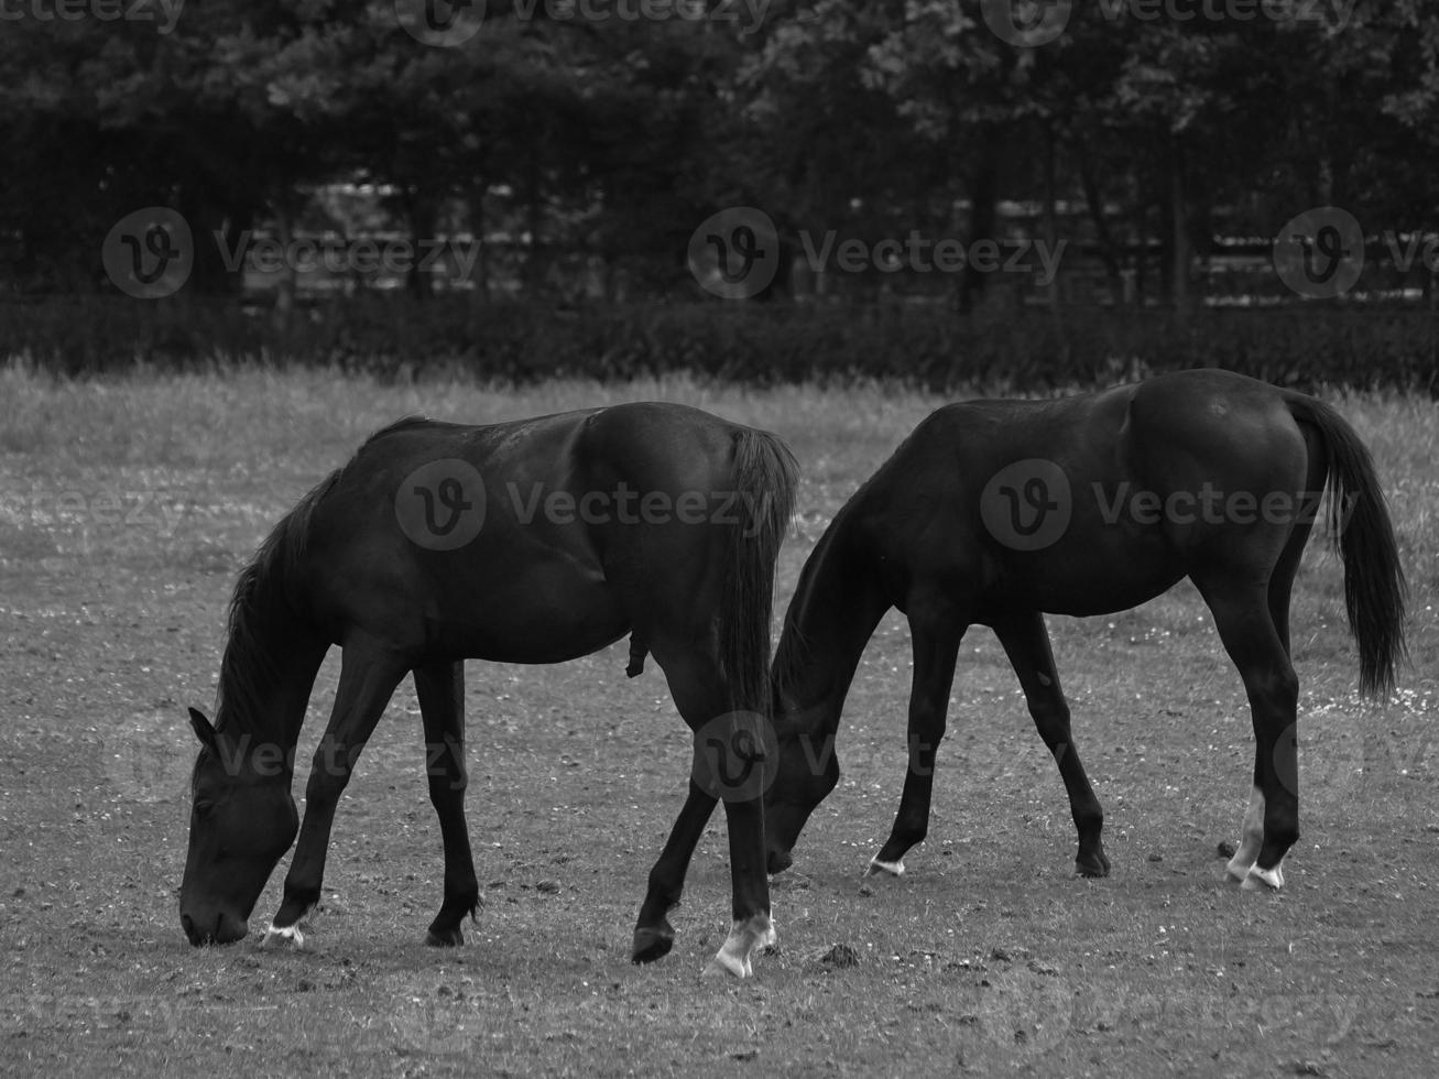
<svg viewBox="0 0 1439 1079">
<path fill-rule="evenodd" d="M 186 935 L 246 935 L 295 840 L 295 744 L 319 663 L 338 645 L 340 686 L 266 941 L 304 942 L 298 922 L 319 899 L 341 791 L 413 673 L 445 846 L 445 896 L 426 939 L 462 944 L 479 901 L 463 810 L 463 660 L 557 663 L 630 633 L 629 673 L 653 655 L 696 742 L 633 958 L 658 960 L 673 944 L 666 912 L 724 798 L 734 928 L 712 965 L 750 974 L 754 948 L 774 939 L 758 780 L 764 739 L 773 747 L 774 563 L 794 485 L 777 437 L 676 404 L 484 427 L 412 419 L 374 434 L 276 525 L 236 584 L 214 727 L 190 712 L 201 750 L 180 889 Z M 744 760 L 715 761 L 717 742 L 721 757 Z"/>
</svg>

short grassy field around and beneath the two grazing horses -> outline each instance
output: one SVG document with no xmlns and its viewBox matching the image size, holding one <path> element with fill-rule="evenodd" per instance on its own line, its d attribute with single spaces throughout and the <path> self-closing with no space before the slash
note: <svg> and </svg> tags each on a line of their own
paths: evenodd
<svg viewBox="0 0 1439 1079">
<path fill-rule="evenodd" d="M 176 893 L 194 742 L 235 571 L 374 427 L 672 399 L 770 427 L 804 483 L 780 604 L 853 488 L 940 401 L 694 381 L 524 391 L 327 373 L 52 381 L 0 370 L 0 1072 L 4 1075 L 1433 1075 L 1439 1072 L 1439 410 L 1335 397 L 1373 447 L 1410 577 L 1413 663 L 1356 695 L 1337 561 L 1295 597 L 1302 829 L 1288 889 L 1222 882 L 1252 738 L 1186 584 L 1052 619 L 1114 873 L 1072 878 L 1053 764 L 987 630 L 966 639 L 930 840 L 865 882 L 904 768 L 908 633 L 871 642 L 840 787 L 774 883 L 778 954 L 702 981 L 728 924 L 722 824 L 675 952 L 627 961 L 688 739 L 623 645 L 469 665 L 469 820 L 485 906 L 422 947 L 442 859 L 417 706 L 393 701 L 341 806 L 309 950 L 197 951 Z M 324 725 L 327 660 L 301 744 Z M 302 786 L 296 787 L 296 793 Z M 255 914 L 278 906 L 279 879 Z M 255 924 L 252 922 L 252 925 Z M 848 945 L 858 964 L 833 961 Z"/>
</svg>

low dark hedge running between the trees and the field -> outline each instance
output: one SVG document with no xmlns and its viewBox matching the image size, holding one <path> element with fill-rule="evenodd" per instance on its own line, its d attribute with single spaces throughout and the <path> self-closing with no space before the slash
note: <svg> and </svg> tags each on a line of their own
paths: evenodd
<svg viewBox="0 0 1439 1079">
<path fill-rule="evenodd" d="M 938 306 L 688 304 L 550 309 L 363 296 L 289 312 L 233 302 L 56 298 L 0 304 L 0 358 L 62 374 L 138 364 L 318 364 L 381 378 L 416 373 L 532 381 L 688 370 L 754 384 L 904 380 L 1086 386 L 1186 367 L 1272 383 L 1439 394 L 1439 318 L 1415 308 L 1309 304 L 1163 311 L 1048 308 L 960 317 Z"/>
</svg>

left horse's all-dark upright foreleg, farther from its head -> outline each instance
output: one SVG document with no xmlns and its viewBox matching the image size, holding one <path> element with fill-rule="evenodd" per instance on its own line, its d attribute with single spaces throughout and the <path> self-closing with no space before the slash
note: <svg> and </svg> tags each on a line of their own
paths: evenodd
<svg viewBox="0 0 1439 1079">
<path fill-rule="evenodd" d="M 445 899 L 425 934 L 425 942 L 437 947 L 463 944 L 460 925 L 466 915 L 473 919 L 479 906 L 479 882 L 465 823 L 465 790 L 469 786 L 465 771 L 465 665 L 416 668 L 414 692 L 425 722 L 425 774 L 430 804 L 439 817 L 445 844 Z"/>
</svg>

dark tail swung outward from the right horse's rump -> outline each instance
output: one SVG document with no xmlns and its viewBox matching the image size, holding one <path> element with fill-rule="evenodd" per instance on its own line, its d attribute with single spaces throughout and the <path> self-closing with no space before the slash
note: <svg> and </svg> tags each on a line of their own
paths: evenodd
<svg viewBox="0 0 1439 1079">
<path fill-rule="evenodd" d="M 1374 460 L 1354 429 L 1322 401 L 1288 391 L 1289 414 L 1318 432 L 1327 459 L 1328 527 L 1344 560 L 1344 606 L 1358 645 L 1364 693 L 1394 688 L 1404 657 L 1404 571 Z"/>
</svg>

